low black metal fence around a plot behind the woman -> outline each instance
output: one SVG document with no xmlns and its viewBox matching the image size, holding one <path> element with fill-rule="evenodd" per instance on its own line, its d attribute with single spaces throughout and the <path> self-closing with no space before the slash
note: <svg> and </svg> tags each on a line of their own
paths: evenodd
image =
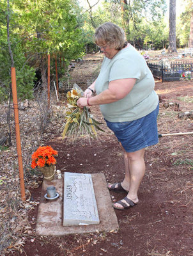
<svg viewBox="0 0 193 256">
<path fill-rule="evenodd" d="M 165 81 L 193 79 L 193 63 L 191 61 L 174 61 L 168 65 L 163 63 L 147 63 L 153 77 Z"/>
</svg>

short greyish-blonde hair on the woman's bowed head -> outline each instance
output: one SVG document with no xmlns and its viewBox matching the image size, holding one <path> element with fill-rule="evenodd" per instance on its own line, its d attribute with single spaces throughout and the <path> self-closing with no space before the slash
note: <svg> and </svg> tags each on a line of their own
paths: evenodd
<svg viewBox="0 0 193 256">
<path fill-rule="evenodd" d="M 94 35 L 95 44 L 108 44 L 116 50 L 121 50 L 126 41 L 125 32 L 112 22 L 105 22 L 96 28 Z"/>
</svg>

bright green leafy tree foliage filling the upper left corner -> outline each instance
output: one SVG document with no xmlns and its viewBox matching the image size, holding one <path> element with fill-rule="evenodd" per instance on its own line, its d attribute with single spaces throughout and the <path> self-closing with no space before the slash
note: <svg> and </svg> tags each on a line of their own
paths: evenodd
<svg viewBox="0 0 193 256">
<path fill-rule="evenodd" d="M 10 52 L 6 33 L 6 15 L 10 17 L 10 43 L 15 62 L 17 89 L 21 99 L 33 96 L 36 68 L 47 69 L 47 54 L 65 59 L 68 65 L 82 54 L 81 19 L 75 0 L 10 0 L 0 3 L 0 100 L 8 98 L 10 88 Z M 79 15 L 80 17 L 80 15 Z M 55 62 L 52 65 L 55 67 Z M 55 70 L 55 68 L 54 68 Z M 59 68 L 63 75 L 66 68 Z"/>
</svg>

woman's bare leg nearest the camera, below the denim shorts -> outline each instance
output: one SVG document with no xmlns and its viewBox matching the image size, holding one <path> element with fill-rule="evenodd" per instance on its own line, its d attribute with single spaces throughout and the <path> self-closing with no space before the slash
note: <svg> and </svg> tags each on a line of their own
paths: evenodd
<svg viewBox="0 0 193 256">
<path fill-rule="evenodd" d="M 145 149 L 143 148 L 135 152 L 131 152 L 131 153 L 127 152 L 128 163 L 129 163 L 129 173 L 130 173 L 130 188 L 128 191 L 127 198 L 132 200 L 135 204 L 139 202 L 137 197 L 137 192 L 145 172 L 144 150 Z M 129 205 L 125 200 L 123 200 L 123 202 Z M 115 203 L 114 205 L 116 207 L 119 207 L 120 209 L 121 208 L 123 209 L 123 206 L 118 203 Z"/>
</svg>

